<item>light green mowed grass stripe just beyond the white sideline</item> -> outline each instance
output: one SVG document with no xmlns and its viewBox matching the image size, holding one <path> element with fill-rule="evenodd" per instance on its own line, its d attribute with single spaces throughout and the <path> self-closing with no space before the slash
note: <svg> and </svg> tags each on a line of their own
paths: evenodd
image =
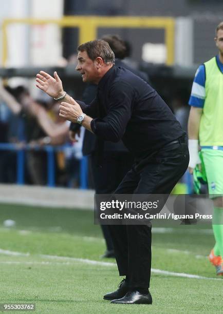
<svg viewBox="0 0 223 314">
<path fill-rule="evenodd" d="M 154 269 L 196 274 L 197 276 L 210 278 L 215 276 L 215 269 L 206 258 L 196 258 L 197 254 L 193 251 L 194 247 L 191 249 L 190 246 L 185 247 L 184 245 L 182 249 L 179 249 L 176 238 L 173 241 L 172 234 L 165 235 L 166 238 L 169 237 L 168 242 L 170 243 L 169 246 L 166 246 L 165 242 L 162 243 L 162 237 L 163 234 L 159 234 L 155 241 L 155 237 L 153 237 L 152 267 Z M 206 237 L 210 237 L 210 235 Z M 3 250 L 17 251 L 23 254 L 29 252 L 30 254 L 46 254 L 49 256 L 65 256 L 75 259 L 107 262 L 106 259 L 100 258 L 104 251 L 104 243 L 102 241 L 84 241 L 80 234 L 33 231 L 24 235 L 20 234 L 19 230 L 10 230 L 9 232 L 0 231 L 0 238 Z M 193 242 L 192 239 L 190 240 Z M 202 242 L 201 239 L 199 240 Z M 173 248 L 173 251 L 169 251 L 170 247 Z M 181 252 L 184 251 L 184 248 L 187 248 L 187 252 L 190 249 L 190 253 L 185 254 Z M 198 253 L 205 251 L 200 250 L 199 245 L 196 245 L 196 248 Z"/>
</svg>

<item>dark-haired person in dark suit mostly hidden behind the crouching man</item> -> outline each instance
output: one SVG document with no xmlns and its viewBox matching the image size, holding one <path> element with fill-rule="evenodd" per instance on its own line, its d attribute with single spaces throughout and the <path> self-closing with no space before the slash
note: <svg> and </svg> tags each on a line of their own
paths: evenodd
<svg viewBox="0 0 223 314">
<path fill-rule="evenodd" d="M 115 66 L 123 67 L 147 81 L 147 75 L 126 65 L 122 60 L 127 55 L 127 49 L 124 41 L 118 35 L 104 35 L 102 40 L 107 42 L 115 53 Z M 83 93 L 83 102 L 89 104 L 97 95 L 98 86 L 88 83 Z M 77 123 L 70 124 L 70 139 L 75 140 L 76 134 L 80 130 Z M 97 137 L 88 130 L 85 130 L 83 140 L 83 155 L 89 155 L 92 179 L 95 185 L 96 194 L 111 194 L 118 187 L 127 171 L 133 164 L 133 156 L 122 141 L 118 143 L 104 141 L 104 152 L 99 165 L 99 143 Z M 101 225 L 106 244 L 106 251 L 102 257 L 113 258 L 114 248 L 107 225 Z"/>
</svg>

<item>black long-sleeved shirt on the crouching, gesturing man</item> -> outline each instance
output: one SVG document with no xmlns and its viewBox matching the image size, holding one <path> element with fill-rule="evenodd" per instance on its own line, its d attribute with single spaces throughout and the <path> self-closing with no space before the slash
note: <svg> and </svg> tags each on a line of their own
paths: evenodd
<svg viewBox="0 0 223 314">
<path fill-rule="evenodd" d="M 159 94 L 121 67 L 112 67 L 105 73 L 90 105 L 79 104 L 93 118 L 91 129 L 101 140 L 122 139 L 139 159 L 185 135 Z"/>
</svg>

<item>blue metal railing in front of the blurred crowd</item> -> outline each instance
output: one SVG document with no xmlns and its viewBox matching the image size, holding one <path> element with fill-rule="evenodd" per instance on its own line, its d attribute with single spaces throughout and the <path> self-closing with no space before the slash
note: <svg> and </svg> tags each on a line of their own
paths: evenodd
<svg viewBox="0 0 223 314">
<path fill-rule="evenodd" d="M 17 170 L 16 170 L 16 183 L 25 183 L 25 151 L 26 150 L 45 150 L 47 152 L 47 186 L 55 186 L 55 151 L 64 151 L 67 148 L 66 145 L 63 146 L 39 146 L 39 145 L 20 145 L 11 143 L 0 143 L 1 150 L 12 150 L 17 154 Z M 83 156 L 80 160 L 80 188 L 87 188 L 87 157 Z"/>
</svg>

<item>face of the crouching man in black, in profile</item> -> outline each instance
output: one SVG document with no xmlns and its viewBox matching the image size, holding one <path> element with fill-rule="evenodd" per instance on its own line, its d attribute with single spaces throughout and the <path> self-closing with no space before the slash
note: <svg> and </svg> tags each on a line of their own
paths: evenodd
<svg viewBox="0 0 223 314">
<path fill-rule="evenodd" d="M 86 51 L 78 52 L 78 65 L 76 70 L 81 73 L 83 82 L 94 83 L 97 81 L 98 72 L 96 63 L 89 58 Z"/>
</svg>

